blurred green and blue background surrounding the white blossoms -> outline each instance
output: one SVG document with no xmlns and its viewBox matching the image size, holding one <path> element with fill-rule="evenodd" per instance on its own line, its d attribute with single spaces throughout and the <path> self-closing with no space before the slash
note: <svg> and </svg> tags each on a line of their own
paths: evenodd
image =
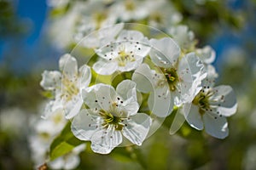
<svg viewBox="0 0 256 170">
<path fill-rule="evenodd" d="M 29 136 L 46 95 L 41 73 L 58 70 L 61 54 L 73 48 L 68 38 L 78 20 L 74 2 L 87 3 L 0 0 L 0 169 L 34 168 Z M 104 8 L 113 3 L 103 2 Z M 194 31 L 197 47 L 215 49 L 217 84 L 236 91 L 238 111 L 228 118 L 229 137 L 214 139 L 187 124 L 171 136 L 163 126 L 142 147 L 118 148 L 108 156 L 86 149 L 77 169 L 256 169 L 256 1 L 169 3 L 182 16 L 179 24 Z"/>
</svg>

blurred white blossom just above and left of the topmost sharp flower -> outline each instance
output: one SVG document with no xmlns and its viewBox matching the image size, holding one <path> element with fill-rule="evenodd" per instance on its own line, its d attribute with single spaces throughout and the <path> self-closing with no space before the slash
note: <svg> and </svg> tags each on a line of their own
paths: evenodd
<svg viewBox="0 0 256 170">
<path fill-rule="evenodd" d="M 88 1 L 84 2 L 84 4 L 85 8 L 81 11 L 82 17 L 76 28 L 74 39 L 76 42 L 79 42 L 82 38 L 86 37 L 83 40 L 83 46 L 96 48 L 99 46 L 99 40 L 102 38 L 113 37 L 119 33 L 118 30 L 115 30 L 119 29 L 119 26 L 113 26 L 116 23 L 117 17 L 110 13 L 106 7 L 107 5 L 101 0 Z M 105 28 L 106 31 L 102 31 Z M 101 31 L 96 31 L 99 29 Z M 91 32 L 93 32 L 92 35 Z"/>
</svg>

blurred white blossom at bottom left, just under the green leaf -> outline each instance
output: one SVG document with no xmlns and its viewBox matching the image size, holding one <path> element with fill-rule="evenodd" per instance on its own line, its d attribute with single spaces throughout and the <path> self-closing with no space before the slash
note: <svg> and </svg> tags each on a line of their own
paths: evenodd
<svg viewBox="0 0 256 170">
<path fill-rule="evenodd" d="M 55 161 L 49 162 L 49 167 L 52 169 L 74 169 L 79 166 L 79 153 L 85 149 L 85 144 L 80 144 L 72 151 L 64 156 L 57 158 Z"/>
</svg>

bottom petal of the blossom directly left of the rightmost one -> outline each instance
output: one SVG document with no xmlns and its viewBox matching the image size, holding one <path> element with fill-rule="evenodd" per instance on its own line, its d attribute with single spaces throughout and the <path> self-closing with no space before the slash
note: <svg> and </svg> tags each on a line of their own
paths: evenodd
<svg viewBox="0 0 256 170">
<path fill-rule="evenodd" d="M 155 88 L 154 92 L 149 94 L 148 107 L 156 116 L 165 117 L 170 115 L 173 102 L 171 102 L 169 87 Z"/>
</svg>

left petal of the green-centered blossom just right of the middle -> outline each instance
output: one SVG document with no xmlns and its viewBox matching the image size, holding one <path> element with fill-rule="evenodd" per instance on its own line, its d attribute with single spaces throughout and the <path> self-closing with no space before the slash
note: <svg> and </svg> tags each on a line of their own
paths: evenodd
<svg viewBox="0 0 256 170">
<path fill-rule="evenodd" d="M 140 92 L 148 93 L 153 91 L 154 82 L 152 80 L 152 73 L 147 64 L 140 65 L 136 71 L 134 71 L 132 81 L 137 83 L 137 89 Z"/>
</svg>

